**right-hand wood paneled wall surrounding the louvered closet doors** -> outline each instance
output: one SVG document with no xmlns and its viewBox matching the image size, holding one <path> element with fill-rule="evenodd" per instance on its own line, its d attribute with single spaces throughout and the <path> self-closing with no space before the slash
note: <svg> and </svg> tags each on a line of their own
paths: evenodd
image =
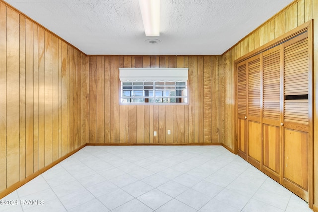
<svg viewBox="0 0 318 212">
<path fill-rule="evenodd" d="M 220 142 L 234 150 L 234 60 L 252 52 L 303 23 L 314 19 L 314 182 L 318 182 L 318 0 L 295 0 L 222 55 L 219 65 Z M 225 83 L 226 82 L 226 83 Z M 231 132 L 231 133 L 229 133 Z M 314 183 L 314 210 L 318 212 L 318 183 Z"/>
</svg>

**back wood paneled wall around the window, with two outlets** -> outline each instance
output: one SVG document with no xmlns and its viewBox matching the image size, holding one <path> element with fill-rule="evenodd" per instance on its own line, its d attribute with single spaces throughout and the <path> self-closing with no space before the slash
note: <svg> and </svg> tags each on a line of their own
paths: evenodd
<svg viewBox="0 0 318 212">
<path fill-rule="evenodd" d="M 219 59 L 89 56 L 89 143 L 218 143 Z M 119 67 L 188 67 L 189 105 L 119 105 Z"/>
</svg>

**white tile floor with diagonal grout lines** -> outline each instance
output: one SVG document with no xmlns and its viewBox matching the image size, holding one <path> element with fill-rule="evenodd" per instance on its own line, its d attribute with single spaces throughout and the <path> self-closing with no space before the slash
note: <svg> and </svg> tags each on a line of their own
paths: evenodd
<svg viewBox="0 0 318 212">
<path fill-rule="evenodd" d="M 2 200 L 19 202 L 1 212 L 311 212 L 222 146 L 86 146 Z"/>
</svg>

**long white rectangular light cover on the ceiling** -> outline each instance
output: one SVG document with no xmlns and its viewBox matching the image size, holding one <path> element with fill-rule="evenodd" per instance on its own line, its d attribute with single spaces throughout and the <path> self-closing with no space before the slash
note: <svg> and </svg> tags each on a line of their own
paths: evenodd
<svg viewBox="0 0 318 212">
<path fill-rule="evenodd" d="M 160 0 L 139 0 L 146 36 L 160 35 Z"/>
</svg>

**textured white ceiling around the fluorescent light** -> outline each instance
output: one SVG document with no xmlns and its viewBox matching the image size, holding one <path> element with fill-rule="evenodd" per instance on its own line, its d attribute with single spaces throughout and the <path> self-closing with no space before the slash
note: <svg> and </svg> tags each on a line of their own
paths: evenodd
<svg viewBox="0 0 318 212">
<path fill-rule="evenodd" d="M 220 55 L 292 1 L 161 0 L 146 37 L 138 0 L 6 0 L 88 55 Z"/>
</svg>

